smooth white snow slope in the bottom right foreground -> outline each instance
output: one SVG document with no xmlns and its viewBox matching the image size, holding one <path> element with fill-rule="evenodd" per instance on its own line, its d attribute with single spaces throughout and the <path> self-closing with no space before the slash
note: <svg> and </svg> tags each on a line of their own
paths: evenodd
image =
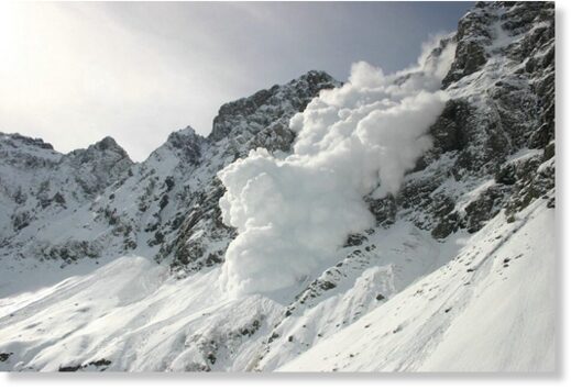
<svg viewBox="0 0 571 390">
<path fill-rule="evenodd" d="M 497 215 L 419 279 L 284 371 L 553 371 L 554 212 Z"/>
</svg>

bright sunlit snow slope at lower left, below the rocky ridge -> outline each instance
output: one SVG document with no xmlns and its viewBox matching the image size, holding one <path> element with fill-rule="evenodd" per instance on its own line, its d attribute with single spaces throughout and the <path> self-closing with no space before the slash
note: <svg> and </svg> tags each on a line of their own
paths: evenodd
<svg viewBox="0 0 571 390">
<path fill-rule="evenodd" d="M 217 350 L 218 364 L 243 370 L 255 343 L 244 345 L 252 338 L 241 332 L 254 321 L 263 331 L 278 305 L 261 297 L 228 300 L 216 288 L 218 278 L 215 269 L 177 281 L 154 261 L 121 257 L 33 296 L 1 299 L 0 349 L 15 355 L 11 370 L 94 368 L 89 364 L 100 359 L 110 361 L 109 370 L 188 370 L 206 367 L 196 343 L 202 337 L 207 347 L 211 341 L 233 345 L 228 355 L 243 358 L 224 361 Z M 227 337 L 233 344 L 223 343 Z"/>
</svg>

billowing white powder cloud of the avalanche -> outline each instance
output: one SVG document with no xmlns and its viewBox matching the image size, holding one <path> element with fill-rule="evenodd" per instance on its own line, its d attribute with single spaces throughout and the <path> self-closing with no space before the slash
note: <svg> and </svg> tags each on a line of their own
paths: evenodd
<svg viewBox="0 0 571 390">
<path fill-rule="evenodd" d="M 348 234 L 373 226 L 363 197 L 395 193 L 431 146 L 427 131 L 443 109 L 438 89 L 454 53 L 450 40 L 437 42 L 393 75 L 354 64 L 349 82 L 292 119 L 292 155 L 259 148 L 218 174 L 223 222 L 239 233 L 221 277 L 232 294 L 304 282 L 331 265 Z"/>
</svg>

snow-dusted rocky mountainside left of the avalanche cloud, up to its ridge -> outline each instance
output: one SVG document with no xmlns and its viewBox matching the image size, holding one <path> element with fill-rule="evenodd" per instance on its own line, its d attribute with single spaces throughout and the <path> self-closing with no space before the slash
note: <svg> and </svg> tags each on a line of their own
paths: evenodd
<svg viewBox="0 0 571 390">
<path fill-rule="evenodd" d="M 0 255 L 65 266 L 134 253 L 183 274 L 220 264 L 233 232 L 219 218 L 216 174 L 255 147 L 287 152 L 292 115 L 338 85 L 310 71 L 224 104 L 207 138 L 179 130 L 142 164 L 110 137 L 62 155 L 2 133 Z"/>
</svg>

